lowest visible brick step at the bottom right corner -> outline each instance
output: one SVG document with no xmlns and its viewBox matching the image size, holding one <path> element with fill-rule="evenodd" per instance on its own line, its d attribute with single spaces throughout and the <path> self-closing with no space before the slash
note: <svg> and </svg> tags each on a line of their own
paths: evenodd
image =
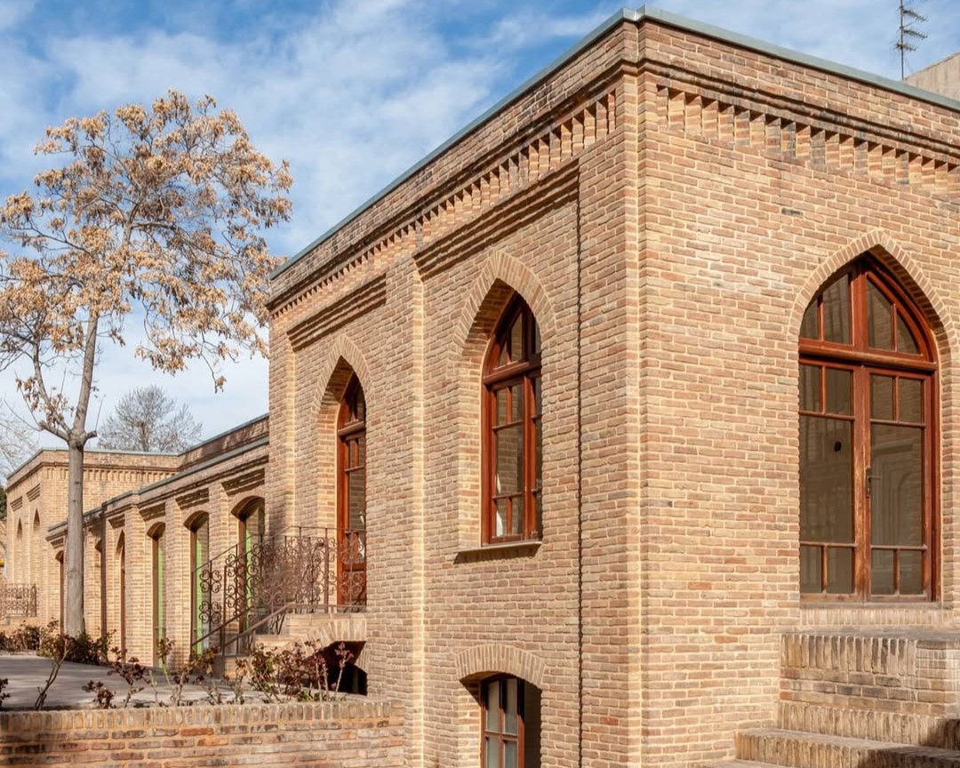
<svg viewBox="0 0 960 768">
<path fill-rule="evenodd" d="M 790 768 L 960 768 L 956 750 L 773 728 L 737 733 L 736 756 Z"/>
</svg>

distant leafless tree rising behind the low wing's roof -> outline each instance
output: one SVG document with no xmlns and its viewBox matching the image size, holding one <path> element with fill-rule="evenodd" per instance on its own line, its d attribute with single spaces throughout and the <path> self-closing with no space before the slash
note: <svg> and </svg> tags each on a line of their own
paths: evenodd
<svg viewBox="0 0 960 768">
<path fill-rule="evenodd" d="M 178 407 L 162 387 L 149 384 L 120 398 L 97 428 L 97 444 L 114 450 L 178 453 L 200 440 L 202 430 L 186 403 Z"/>
</svg>

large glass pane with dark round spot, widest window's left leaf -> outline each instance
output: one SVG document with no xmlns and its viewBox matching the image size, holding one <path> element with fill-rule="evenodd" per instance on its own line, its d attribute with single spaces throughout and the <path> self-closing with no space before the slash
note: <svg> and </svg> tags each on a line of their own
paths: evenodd
<svg viewBox="0 0 960 768">
<path fill-rule="evenodd" d="M 800 539 L 852 543 L 850 421 L 800 418 Z"/>
</svg>

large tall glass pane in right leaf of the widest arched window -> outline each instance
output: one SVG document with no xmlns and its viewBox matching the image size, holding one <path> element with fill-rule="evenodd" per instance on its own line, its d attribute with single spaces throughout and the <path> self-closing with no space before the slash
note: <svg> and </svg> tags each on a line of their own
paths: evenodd
<svg viewBox="0 0 960 768">
<path fill-rule="evenodd" d="M 871 543 L 923 543 L 923 438 L 919 427 L 874 424 L 870 428 Z"/>
</svg>

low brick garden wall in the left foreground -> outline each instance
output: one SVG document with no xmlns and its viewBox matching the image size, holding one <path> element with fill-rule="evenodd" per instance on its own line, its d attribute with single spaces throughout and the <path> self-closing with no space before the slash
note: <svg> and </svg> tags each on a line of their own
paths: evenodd
<svg viewBox="0 0 960 768">
<path fill-rule="evenodd" d="M 403 711 L 349 701 L 2 712 L 0 764 L 401 768 Z"/>
</svg>

